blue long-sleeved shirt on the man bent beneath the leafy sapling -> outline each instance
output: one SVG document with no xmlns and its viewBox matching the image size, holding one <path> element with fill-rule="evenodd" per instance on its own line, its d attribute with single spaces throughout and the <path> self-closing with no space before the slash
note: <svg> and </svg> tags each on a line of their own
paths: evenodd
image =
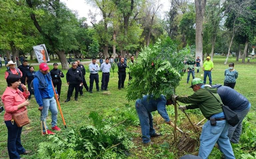
<svg viewBox="0 0 256 159">
<path fill-rule="evenodd" d="M 150 98 L 150 99 L 148 99 Z M 143 96 L 142 99 L 138 99 L 136 102 L 139 104 L 144 105 L 146 110 L 148 112 L 154 112 L 157 111 L 160 116 L 165 119 L 166 122 L 170 121 L 170 118 L 167 114 L 165 105 L 166 105 L 166 99 L 163 95 L 161 95 L 158 99 L 153 99 L 152 95 Z"/>
</svg>

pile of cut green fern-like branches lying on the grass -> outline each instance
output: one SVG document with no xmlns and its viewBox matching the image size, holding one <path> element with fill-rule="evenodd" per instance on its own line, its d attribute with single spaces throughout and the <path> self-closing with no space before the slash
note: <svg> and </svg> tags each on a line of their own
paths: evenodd
<svg viewBox="0 0 256 159">
<path fill-rule="evenodd" d="M 125 125 L 114 125 L 96 112 L 91 112 L 89 117 L 94 125 L 82 126 L 78 131 L 71 129 L 66 138 L 52 135 L 50 142 L 40 143 L 38 158 L 124 158 L 134 147 Z"/>
</svg>

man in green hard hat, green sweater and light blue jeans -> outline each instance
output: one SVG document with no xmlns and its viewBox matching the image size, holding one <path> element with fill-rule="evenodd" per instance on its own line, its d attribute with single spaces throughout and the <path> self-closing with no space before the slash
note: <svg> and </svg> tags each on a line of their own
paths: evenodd
<svg viewBox="0 0 256 159">
<path fill-rule="evenodd" d="M 203 116 L 208 119 L 203 125 L 200 136 L 199 157 L 207 159 L 215 143 L 217 142 L 225 158 L 235 159 L 229 138 L 228 122 L 221 107 L 221 99 L 216 88 L 211 88 L 203 84 L 200 78 L 195 78 L 191 82 L 194 93 L 190 96 L 172 95 L 173 101 L 180 101 L 189 104 L 180 106 L 180 110 L 199 108 Z M 217 99 L 220 101 L 217 101 Z"/>
</svg>

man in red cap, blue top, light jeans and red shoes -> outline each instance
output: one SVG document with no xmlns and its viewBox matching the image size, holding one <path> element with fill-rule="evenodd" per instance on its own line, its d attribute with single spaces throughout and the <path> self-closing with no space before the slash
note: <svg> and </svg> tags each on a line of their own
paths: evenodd
<svg viewBox="0 0 256 159">
<path fill-rule="evenodd" d="M 39 105 L 39 110 L 42 111 L 43 120 L 46 121 L 48 116 L 48 110 L 50 109 L 52 114 L 52 130 L 60 131 L 60 128 L 57 126 L 57 105 L 56 100 L 54 99 L 54 92 L 52 88 L 52 78 L 48 72 L 49 67 L 47 63 L 41 63 L 39 65 L 39 70 L 35 73 L 35 78 L 33 80 L 34 94 L 37 104 Z M 55 90 L 56 94 L 57 91 Z M 57 94 L 58 98 L 58 94 Z M 43 134 L 55 134 L 54 132 L 43 128 Z"/>
</svg>

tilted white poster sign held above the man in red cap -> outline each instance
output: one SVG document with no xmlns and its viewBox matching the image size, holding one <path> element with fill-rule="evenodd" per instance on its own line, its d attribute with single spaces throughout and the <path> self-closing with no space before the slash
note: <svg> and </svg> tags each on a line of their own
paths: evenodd
<svg viewBox="0 0 256 159">
<path fill-rule="evenodd" d="M 50 61 L 45 44 L 33 46 L 38 63 Z"/>
</svg>

